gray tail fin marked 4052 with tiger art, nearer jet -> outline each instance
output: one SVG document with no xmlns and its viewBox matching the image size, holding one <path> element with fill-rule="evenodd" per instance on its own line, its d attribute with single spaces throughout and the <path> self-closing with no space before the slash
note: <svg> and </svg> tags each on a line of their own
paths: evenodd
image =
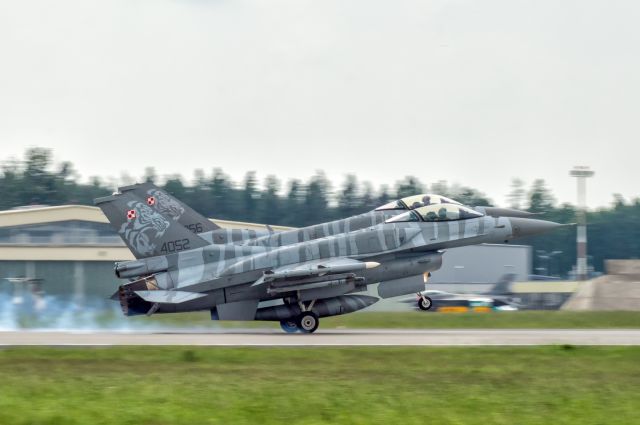
<svg viewBox="0 0 640 425">
<path fill-rule="evenodd" d="M 94 200 L 136 258 L 201 248 L 208 243 L 131 193 Z"/>
</svg>

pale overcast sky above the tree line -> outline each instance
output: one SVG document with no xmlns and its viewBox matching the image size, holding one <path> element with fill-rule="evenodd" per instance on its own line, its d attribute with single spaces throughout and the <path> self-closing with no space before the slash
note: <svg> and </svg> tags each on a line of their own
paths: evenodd
<svg viewBox="0 0 640 425">
<path fill-rule="evenodd" d="M 0 2 L 0 160 L 640 196 L 637 1 Z"/>
</svg>

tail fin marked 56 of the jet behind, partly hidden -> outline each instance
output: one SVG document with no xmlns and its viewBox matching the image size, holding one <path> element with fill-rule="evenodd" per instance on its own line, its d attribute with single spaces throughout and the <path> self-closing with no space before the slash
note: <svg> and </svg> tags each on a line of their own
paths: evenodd
<svg viewBox="0 0 640 425">
<path fill-rule="evenodd" d="M 153 183 L 139 183 L 118 188 L 121 193 L 130 192 L 142 199 L 160 214 L 182 224 L 193 233 L 209 232 L 220 229 L 220 226 L 197 213 L 193 208 L 180 202 Z"/>
</svg>

